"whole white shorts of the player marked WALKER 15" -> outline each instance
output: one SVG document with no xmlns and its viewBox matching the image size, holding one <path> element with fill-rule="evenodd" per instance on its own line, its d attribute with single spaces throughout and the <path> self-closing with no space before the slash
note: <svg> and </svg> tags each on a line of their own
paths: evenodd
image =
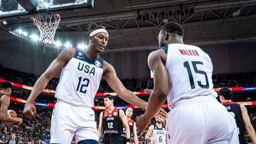
<svg viewBox="0 0 256 144">
<path fill-rule="evenodd" d="M 235 119 L 213 96 L 176 102 L 167 118 L 169 144 L 238 144 Z"/>
</svg>

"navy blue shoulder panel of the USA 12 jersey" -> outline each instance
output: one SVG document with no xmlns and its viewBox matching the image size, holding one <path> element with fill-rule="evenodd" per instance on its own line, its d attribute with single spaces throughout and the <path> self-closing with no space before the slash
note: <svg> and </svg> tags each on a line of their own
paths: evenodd
<svg viewBox="0 0 256 144">
<path fill-rule="evenodd" d="M 87 57 L 87 55 L 85 55 L 84 51 L 82 51 L 78 48 L 75 48 L 74 58 L 76 58 L 78 60 L 82 60 L 91 65 L 95 65 L 96 67 L 100 67 L 103 69 L 103 59 L 102 59 L 102 57 L 100 57 L 100 55 L 97 55 L 97 57 L 95 59 L 90 59 L 89 57 Z"/>
</svg>

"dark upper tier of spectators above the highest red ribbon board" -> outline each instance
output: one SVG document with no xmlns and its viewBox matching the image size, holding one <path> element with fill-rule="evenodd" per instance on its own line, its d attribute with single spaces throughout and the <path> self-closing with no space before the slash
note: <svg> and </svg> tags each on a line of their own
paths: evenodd
<svg viewBox="0 0 256 144">
<path fill-rule="evenodd" d="M 33 87 L 39 76 L 31 73 L 18 72 L 0 67 L 0 78 L 11 82 L 25 84 Z M 48 83 L 46 89 L 56 89 L 59 78 L 53 78 Z M 152 87 L 152 79 L 122 79 L 122 83 L 131 91 L 142 91 Z M 214 74 L 214 87 L 253 87 L 256 86 L 256 72 L 241 74 Z M 98 92 L 113 92 L 105 80 L 102 80 Z"/>
</svg>

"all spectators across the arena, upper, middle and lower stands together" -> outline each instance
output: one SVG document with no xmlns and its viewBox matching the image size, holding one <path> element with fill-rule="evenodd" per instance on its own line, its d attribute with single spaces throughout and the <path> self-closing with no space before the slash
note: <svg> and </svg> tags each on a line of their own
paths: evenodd
<svg viewBox="0 0 256 144">
<path fill-rule="evenodd" d="M 18 72 L 16 70 L 9 70 L 0 67 L 0 79 L 6 79 L 10 82 L 16 82 L 19 84 L 24 84 L 33 87 L 33 84 L 38 79 L 38 76 L 30 73 Z M 138 79 L 123 79 L 122 83 L 127 89 L 131 91 L 142 91 L 143 89 L 152 89 L 153 80 L 138 80 Z M 55 89 L 58 84 L 58 78 L 54 78 L 50 81 L 47 89 Z M 256 86 L 256 73 L 246 73 L 246 74 L 215 74 L 213 75 L 214 87 L 253 87 Z M 20 99 L 28 99 L 30 90 L 14 88 L 12 96 Z M 102 80 L 98 92 L 113 92 L 108 86 L 105 80 Z M 41 94 L 38 96 L 36 101 L 45 103 L 55 103 L 56 99 L 53 94 Z M 115 105 L 125 105 L 126 102 L 121 99 L 115 101 Z M 104 106 L 103 98 L 97 97 L 95 99 L 95 106 Z M 0 143 L 6 143 L 7 140 L 11 138 L 11 133 L 16 133 L 18 143 L 34 143 L 34 140 L 39 138 L 40 140 L 48 143 L 50 140 L 50 116 L 51 111 L 38 111 L 36 116 L 32 119 L 24 118 L 22 115 L 22 109 L 16 110 L 18 116 L 23 118 L 23 124 L 17 126 L 16 124 L 8 125 L 6 123 L 0 123 Z M 138 116 L 138 113 L 134 113 L 134 118 Z M 96 121 L 98 123 L 100 111 L 96 111 Z M 256 113 L 250 113 L 250 118 L 252 125 L 256 128 Z M 144 136 L 146 133 L 139 133 L 139 140 L 141 143 L 146 143 L 144 141 Z M 250 143 L 250 138 L 247 135 L 248 143 Z"/>
</svg>

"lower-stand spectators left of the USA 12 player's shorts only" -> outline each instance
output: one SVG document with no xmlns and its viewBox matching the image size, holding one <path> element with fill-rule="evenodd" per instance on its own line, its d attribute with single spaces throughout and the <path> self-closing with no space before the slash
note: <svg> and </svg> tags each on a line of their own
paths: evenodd
<svg viewBox="0 0 256 144">
<path fill-rule="evenodd" d="M 21 109 L 15 110 L 18 117 L 23 118 L 23 123 L 18 126 L 13 124 L 0 124 L 0 143 L 6 143 L 11 139 L 11 134 L 16 134 L 18 144 L 34 143 L 34 140 L 39 139 L 45 143 L 50 142 L 50 117 L 51 110 L 38 109 L 38 113 L 33 118 L 25 118 Z"/>
</svg>

